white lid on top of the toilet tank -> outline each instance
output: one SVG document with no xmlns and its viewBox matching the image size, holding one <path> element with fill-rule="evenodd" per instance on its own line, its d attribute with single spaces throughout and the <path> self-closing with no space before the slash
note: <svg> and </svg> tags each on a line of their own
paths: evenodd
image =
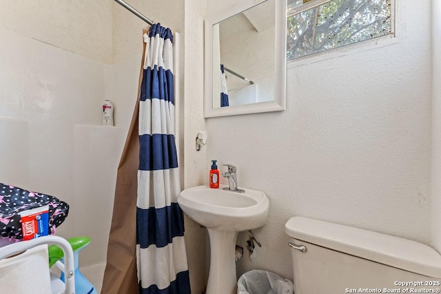
<svg viewBox="0 0 441 294">
<path fill-rule="evenodd" d="M 441 255 L 431 247 L 412 240 L 299 216 L 287 221 L 285 232 L 297 240 L 441 278 Z"/>
</svg>

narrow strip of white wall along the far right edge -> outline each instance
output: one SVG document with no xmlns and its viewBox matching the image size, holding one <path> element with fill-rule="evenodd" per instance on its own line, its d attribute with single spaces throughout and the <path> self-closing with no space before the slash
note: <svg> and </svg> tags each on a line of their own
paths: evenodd
<svg viewBox="0 0 441 294">
<path fill-rule="evenodd" d="M 432 242 L 441 252 L 441 3 L 432 1 Z"/>
</svg>

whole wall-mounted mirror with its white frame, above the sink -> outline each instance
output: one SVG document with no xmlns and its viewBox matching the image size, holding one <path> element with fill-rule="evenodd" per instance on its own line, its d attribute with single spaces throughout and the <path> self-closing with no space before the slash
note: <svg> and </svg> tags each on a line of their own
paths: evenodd
<svg viewBox="0 0 441 294">
<path fill-rule="evenodd" d="M 285 110 L 286 0 L 240 0 L 205 19 L 204 117 Z"/>
</svg>

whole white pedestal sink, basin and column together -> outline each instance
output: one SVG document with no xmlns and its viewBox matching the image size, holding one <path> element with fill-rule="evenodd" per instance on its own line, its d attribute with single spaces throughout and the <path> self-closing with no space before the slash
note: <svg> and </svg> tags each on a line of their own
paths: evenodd
<svg viewBox="0 0 441 294">
<path fill-rule="evenodd" d="M 239 231 L 267 223 L 269 200 L 263 191 L 245 193 L 198 186 L 185 189 L 178 204 L 187 215 L 207 227 L 211 248 L 207 294 L 236 293 L 235 248 Z"/>
</svg>

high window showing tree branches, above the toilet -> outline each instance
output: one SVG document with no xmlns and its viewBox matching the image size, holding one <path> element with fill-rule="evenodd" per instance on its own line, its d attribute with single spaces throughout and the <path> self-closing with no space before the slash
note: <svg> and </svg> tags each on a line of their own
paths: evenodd
<svg viewBox="0 0 441 294">
<path fill-rule="evenodd" d="M 288 0 L 287 60 L 393 34 L 394 0 Z"/>
</svg>

